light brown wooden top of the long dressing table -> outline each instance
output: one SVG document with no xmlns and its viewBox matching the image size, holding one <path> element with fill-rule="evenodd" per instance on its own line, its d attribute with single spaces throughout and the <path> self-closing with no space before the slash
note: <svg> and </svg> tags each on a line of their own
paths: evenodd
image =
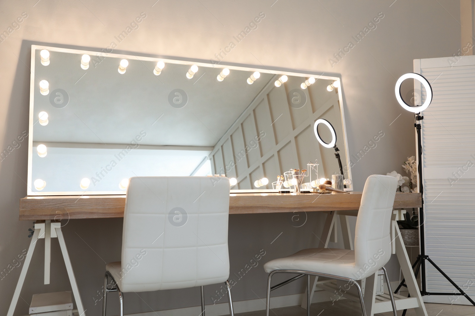
<svg viewBox="0 0 475 316">
<path fill-rule="evenodd" d="M 360 208 L 362 192 L 237 193 L 229 196 L 229 214 L 322 212 Z M 394 208 L 418 208 L 420 193 L 396 193 Z M 19 219 L 123 217 L 125 195 L 44 196 L 20 199 Z"/>
</svg>

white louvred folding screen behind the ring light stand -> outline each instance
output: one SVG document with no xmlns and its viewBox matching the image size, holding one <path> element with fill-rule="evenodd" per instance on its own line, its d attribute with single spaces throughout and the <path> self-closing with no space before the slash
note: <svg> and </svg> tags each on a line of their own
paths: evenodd
<svg viewBox="0 0 475 316">
<path fill-rule="evenodd" d="M 432 103 L 422 115 L 426 254 L 475 297 L 475 56 L 414 60 L 430 82 Z M 420 85 L 416 85 L 420 90 Z M 425 91 L 422 91 L 424 100 Z M 426 261 L 428 292 L 457 292 Z M 426 302 L 470 304 L 460 296 Z"/>
</svg>

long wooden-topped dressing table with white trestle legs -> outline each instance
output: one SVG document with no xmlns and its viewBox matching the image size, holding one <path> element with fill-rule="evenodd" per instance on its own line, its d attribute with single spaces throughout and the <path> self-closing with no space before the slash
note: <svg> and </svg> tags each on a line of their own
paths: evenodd
<svg viewBox="0 0 475 316">
<path fill-rule="evenodd" d="M 327 247 L 332 238 L 336 236 L 337 216 L 340 217 L 343 244 L 346 249 L 353 249 L 350 226 L 347 216 L 356 216 L 360 207 L 362 192 L 351 192 L 350 194 L 312 194 L 312 193 L 237 193 L 230 194 L 229 214 L 256 214 L 256 213 L 285 213 L 294 211 L 304 212 L 326 212 L 325 225 L 322 232 L 321 242 L 318 247 Z M 420 193 L 397 193 L 394 201 L 394 208 L 418 208 L 422 205 Z M 19 293 L 25 280 L 28 265 L 39 238 L 45 239 L 45 284 L 49 283 L 49 262 L 51 238 L 57 237 L 63 253 L 72 291 L 76 300 L 79 315 L 85 315 L 85 310 L 77 288 L 76 279 L 72 265 L 67 253 L 66 243 L 62 235 L 60 220 L 81 219 L 81 218 L 112 218 L 123 217 L 125 207 L 124 195 L 104 195 L 104 196 L 43 196 L 26 197 L 20 199 L 19 219 L 41 221 L 35 224 L 35 233 L 31 238 L 28 254 L 20 273 L 17 288 L 10 304 L 7 316 L 12 316 Z M 391 239 L 393 240 L 393 253 L 398 257 L 403 275 L 408 285 L 410 298 L 396 295 L 395 298 L 398 309 L 416 308 L 418 316 L 427 316 L 427 312 L 419 293 L 418 285 L 409 262 L 409 257 L 404 247 L 404 243 L 399 234 L 396 220 L 401 214 L 395 211 L 393 214 L 393 224 L 391 229 Z M 44 221 L 44 222 L 43 222 Z M 371 279 L 371 280 L 370 280 Z M 366 280 L 366 287 L 372 292 L 376 292 L 377 278 L 370 277 Z M 316 281 L 313 278 L 313 289 L 318 287 L 333 292 L 332 284 L 328 281 Z M 311 293 L 311 299 L 314 291 Z M 336 292 L 335 292 L 336 293 Z M 368 315 L 391 311 L 391 305 L 387 295 L 376 297 L 368 295 L 365 297 L 365 305 L 369 311 Z M 345 293 L 344 298 L 353 299 L 352 294 Z M 355 300 L 358 300 L 354 296 Z M 303 295 L 303 304 L 306 306 L 306 295 Z"/>
</svg>

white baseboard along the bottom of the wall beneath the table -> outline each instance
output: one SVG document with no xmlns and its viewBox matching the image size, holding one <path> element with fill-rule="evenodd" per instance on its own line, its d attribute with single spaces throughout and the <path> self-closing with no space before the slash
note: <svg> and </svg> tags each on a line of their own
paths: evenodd
<svg viewBox="0 0 475 316">
<path fill-rule="evenodd" d="M 302 304 L 302 297 L 303 294 L 277 296 L 271 298 L 270 304 L 272 308 L 297 306 Z M 331 301 L 333 297 L 336 297 L 336 295 L 330 292 L 324 290 L 315 291 L 312 303 Z M 233 307 L 235 314 L 264 310 L 266 309 L 266 298 L 257 298 L 246 301 L 234 302 Z M 229 315 L 229 305 L 227 302 L 215 305 L 207 305 L 205 311 L 206 316 Z M 201 306 L 168 309 L 157 312 L 151 311 L 139 314 L 129 314 L 127 316 L 157 316 L 157 313 L 159 313 L 159 315 L 167 316 L 199 315 L 201 314 Z"/>
</svg>

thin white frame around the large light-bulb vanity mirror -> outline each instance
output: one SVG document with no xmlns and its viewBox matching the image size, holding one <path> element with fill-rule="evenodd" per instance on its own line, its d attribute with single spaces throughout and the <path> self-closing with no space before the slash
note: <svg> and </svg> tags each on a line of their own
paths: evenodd
<svg viewBox="0 0 475 316">
<path fill-rule="evenodd" d="M 324 76 L 322 74 L 312 73 L 312 72 L 289 72 L 286 70 L 278 70 L 279 68 L 273 67 L 272 69 L 262 69 L 262 68 L 255 68 L 255 67 L 248 67 L 246 65 L 230 65 L 230 64 L 215 64 L 215 63 L 203 63 L 199 61 L 193 60 L 176 60 L 176 59 L 167 59 L 161 57 L 148 57 L 148 56 L 141 56 L 141 55 L 128 55 L 128 54 L 113 54 L 113 53 L 104 53 L 102 51 L 88 51 L 88 50 L 81 50 L 81 49 L 70 49 L 70 48 L 61 48 L 61 47 L 51 47 L 51 46 L 44 46 L 44 45 L 31 45 L 31 74 L 30 74 L 30 102 L 29 102 L 29 128 L 28 128 L 28 179 L 27 179 L 27 194 L 28 196 L 82 196 L 87 193 L 87 195 L 125 195 L 124 191 L 33 191 L 31 190 L 31 186 L 33 185 L 32 177 L 32 163 L 33 163 L 33 124 L 35 123 L 34 118 L 34 95 L 35 95 L 35 53 L 37 50 L 47 49 L 48 51 L 54 52 L 61 52 L 61 53 L 73 53 L 73 54 L 88 54 L 91 57 L 97 56 L 101 58 L 105 57 L 113 57 L 113 58 L 122 58 L 122 59 L 130 59 L 130 60 L 140 60 L 140 61 L 150 61 L 150 62 L 158 62 L 163 61 L 165 63 L 175 63 L 175 64 L 187 64 L 192 65 L 195 64 L 199 67 L 212 67 L 212 68 L 228 68 L 229 70 L 241 70 L 247 72 L 261 72 L 261 73 L 269 73 L 269 74 L 279 74 L 279 75 L 287 75 L 287 76 L 296 76 L 296 77 L 314 77 L 315 79 L 327 79 L 333 81 L 340 81 L 340 87 L 338 88 L 338 98 L 339 98 L 339 106 L 340 106 L 340 113 L 342 118 L 342 129 L 343 129 L 343 143 L 345 149 L 345 156 L 347 161 L 347 168 L 348 168 L 348 178 L 352 179 L 352 172 L 350 166 L 350 155 L 348 152 L 348 142 L 347 142 L 347 135 L 346 135 L 346 123 L 345 123 L 345 116 L 343 110 L 343 96 L 342 96 L 342 83 L 339 77 L 332 77 L 332 76 Z M 265 67 L 265 66 L 264 66 Z M 39 88 L 38 88 L 39 89 Z M 352 191 L 351 188 L 347 189 Z M 232 193 L 261 193 L 262 191 L 266 192 L 277 192 L 276 190 L 253 190 L 253 189 L 242 189 L 242 190 L 231 190 Z M 292 190 L 291 190 L 292 191 Z"/>
</svg>

